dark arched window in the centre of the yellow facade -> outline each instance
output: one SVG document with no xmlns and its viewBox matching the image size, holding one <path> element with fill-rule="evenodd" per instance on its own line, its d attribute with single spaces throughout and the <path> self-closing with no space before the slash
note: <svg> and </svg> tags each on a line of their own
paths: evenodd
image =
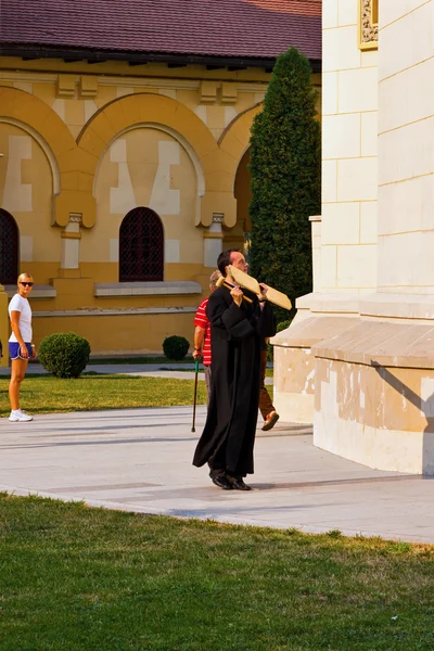
<svg viewBox="0 0 434 651">
<path fill-rule="evenodd" d="M 130 210 L 119 231 L 119 282 L 163 280 L 163 224 L 151 208 Z"/>
</svg>

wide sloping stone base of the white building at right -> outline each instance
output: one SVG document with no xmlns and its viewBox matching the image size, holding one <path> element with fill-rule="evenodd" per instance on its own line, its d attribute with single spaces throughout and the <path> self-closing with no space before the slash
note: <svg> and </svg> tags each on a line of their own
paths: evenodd
<svg viewBox="0 0 434 651">
<path fill-rule="evenodd" d="M 275 405 L 282 419 L 314 422 L 322 449 L 433 475 L 434 298 L 374 294 L 358 307 L 302 312 L 272 340 Z"/>
</svg>

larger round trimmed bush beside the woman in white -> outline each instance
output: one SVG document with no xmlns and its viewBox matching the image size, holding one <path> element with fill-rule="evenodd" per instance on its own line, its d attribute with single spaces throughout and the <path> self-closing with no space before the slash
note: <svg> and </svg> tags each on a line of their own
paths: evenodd
<svg viewBox="0 0 434 651">
<path fill-rule="evenodd" d="M 89 361 L 89 342 L 74 332 L 50 334 L 39 347 L 39 361 L 56 378 L 78 378 Z"/>
</svg>

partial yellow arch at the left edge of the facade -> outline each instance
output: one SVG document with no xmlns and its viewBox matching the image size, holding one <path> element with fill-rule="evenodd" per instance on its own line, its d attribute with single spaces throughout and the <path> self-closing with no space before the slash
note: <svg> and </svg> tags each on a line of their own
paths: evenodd
<svg viewBox="0 0 434 651">
<path fill-rule="evenodd" d="M 59 194 L 54 196 L 54 224 L 66 226 L 69 212 L 81 213 L 84 226 L 94 224 L 94 200 L 89 179 L 92 159 L 77 146 L 69 129 L 48 104 L 17 88 L 0 87 L 0 117 L 12 124 L 27 126 L 39 135 L 46 154 L 52 153 L 59 168 Z"/>
</svg>

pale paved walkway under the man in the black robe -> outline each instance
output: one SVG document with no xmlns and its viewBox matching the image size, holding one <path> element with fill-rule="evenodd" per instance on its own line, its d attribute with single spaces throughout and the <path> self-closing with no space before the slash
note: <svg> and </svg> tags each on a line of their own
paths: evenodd
<svg viewBox="0 0 434 651">
<path fill-rule="evenodd" d="M 92 506 L 434 544 L 434 481 L 370 470 L 312 446 L 311 429 L 258 430 L 254 490 L 224 492 L 191 464 L 199 408 L 0 419 L 0 489 Z"/>
</svg>

